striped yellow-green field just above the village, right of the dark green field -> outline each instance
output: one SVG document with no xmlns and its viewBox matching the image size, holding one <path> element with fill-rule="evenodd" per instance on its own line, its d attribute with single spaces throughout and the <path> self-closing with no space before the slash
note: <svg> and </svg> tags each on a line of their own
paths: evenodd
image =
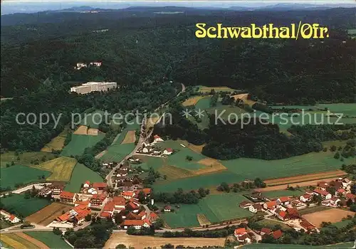
<svg viewBox="0 0 356 249">
<path fill-rule="evenodd" d="M 33 168 L 51 171 L 52 174 L 46 179 L 47 181 L 69 181 L 76 163 L 77 160 L 72 157 L 58 157 L 42 164 L 33 165 Z"/>
</svg>

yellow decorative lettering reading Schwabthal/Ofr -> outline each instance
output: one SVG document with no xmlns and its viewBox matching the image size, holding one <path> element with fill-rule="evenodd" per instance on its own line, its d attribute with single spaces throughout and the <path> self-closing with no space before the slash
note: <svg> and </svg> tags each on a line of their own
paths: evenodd
<svg viewBox="0 0 356 249">
<path fill-rule="evenodd" d="M 328 38 L 328 28 L 318 23 L 291 23 L 290 26 L 275 27 L 273 23 L 263 26 L 224 27 L 221 23 L 216 26 L 206 26 L 206 23 L 197 23 L 197 38 L 281 38 L 281 39 L 323 39 Z"/>
</svg>

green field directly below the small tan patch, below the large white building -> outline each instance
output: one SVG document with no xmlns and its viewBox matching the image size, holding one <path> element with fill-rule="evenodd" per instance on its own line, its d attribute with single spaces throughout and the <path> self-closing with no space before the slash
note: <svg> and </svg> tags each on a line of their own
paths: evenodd
<svg viewBox="0 0 356 249">
<path fill-rule="evenodd" d="M 72 140 L 63 148 L 61 156 L 79 156 L 83 154 L 85 148 L 94 146 L 104 137 L 105 134 L 102 133 L 99 133 L 98 136 L 72 134 Z"/>
</svg>

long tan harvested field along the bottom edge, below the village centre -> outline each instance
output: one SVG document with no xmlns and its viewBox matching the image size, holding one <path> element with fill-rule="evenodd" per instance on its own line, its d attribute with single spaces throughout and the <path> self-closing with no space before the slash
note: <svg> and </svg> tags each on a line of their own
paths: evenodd
<svg viewBox="0 0 356 249">
<path fill-rule="evenodd" d="M 109 240 L 105 243 L 105 249 L 115 248 L 119 244 L 132 246 L 134 248 L 161 248 L 161 245 L 184 245 L 193 247 L 203 247 L 204 245 L 219 245 L 224 246 L 225 238 L 161 238 L 153 236 L 135 236 L 126 233 L 112 233 Z"/>
</svg>

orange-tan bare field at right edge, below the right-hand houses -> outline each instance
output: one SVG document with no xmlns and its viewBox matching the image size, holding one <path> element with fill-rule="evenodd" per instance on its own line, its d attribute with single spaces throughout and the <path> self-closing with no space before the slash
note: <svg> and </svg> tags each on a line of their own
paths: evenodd
<svg viewBox="0 0 356 249">
<path fill-rule="evenodd" d="M 314 226 L 320 228 L 320 225 L 323 221 L 335 223 L 342 221 L 342 218 L 345 218 L 348 215 L 354 216 L 355 213 L 339 208 L 331 208 L 325 211 L 305 214 L 303 215 L 303 218 L 312 223 Z"/>
</svg>

